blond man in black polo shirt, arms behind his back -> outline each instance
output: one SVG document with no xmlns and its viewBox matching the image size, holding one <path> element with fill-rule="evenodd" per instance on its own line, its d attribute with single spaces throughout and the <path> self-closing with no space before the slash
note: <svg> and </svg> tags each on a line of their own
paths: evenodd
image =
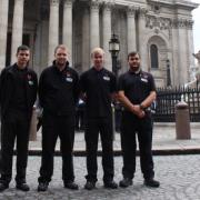
<svg viewBox="0 0 200 200">
<path fill-rule="evenodd" d="M 91 190 L 97 182 L 97 150 L 99 132 L 102 143 L 103 182 L 106 188 L 117 188 L 113 181 L 112 111 L 111 96 L 116 92 L 116 77 L 103 68 L 104 52 L 100 48 L 91 53 L 93 67 L 80 78 L 81 92 L 86 101 L 87 183 Z"/>
</svg>

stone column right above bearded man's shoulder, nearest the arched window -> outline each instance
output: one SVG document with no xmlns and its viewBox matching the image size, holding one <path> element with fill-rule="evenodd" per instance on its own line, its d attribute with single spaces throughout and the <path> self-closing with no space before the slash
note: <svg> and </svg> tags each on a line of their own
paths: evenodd
<svg viewBox="0 0 200 200">
<path fill-rule="evenodd" d="M 147 10 L 140 8 L 139 10 L 139 30 L 138 30 L 138 40 L 139 40 L 139 52 L 141 56 L 141 67 L 144 71 L 148 71 L 148 58 L 147 58 L 147 43 L 144 41 L 146 36 L 146 13 Z"/>
</svg>

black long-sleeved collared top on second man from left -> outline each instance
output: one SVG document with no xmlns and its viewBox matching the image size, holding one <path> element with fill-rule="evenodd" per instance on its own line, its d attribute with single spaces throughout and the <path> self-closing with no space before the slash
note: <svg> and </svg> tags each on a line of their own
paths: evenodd
<svg viewBox="0 0 200 200">
<path fill-rule="evenodd" d="M 74 113 L 79 77 L 66 64 L 60 71 L 54 64 L 44 69 L 39 81 L 39 100 L 44 111 L 57 116 Z"/>
</svg>

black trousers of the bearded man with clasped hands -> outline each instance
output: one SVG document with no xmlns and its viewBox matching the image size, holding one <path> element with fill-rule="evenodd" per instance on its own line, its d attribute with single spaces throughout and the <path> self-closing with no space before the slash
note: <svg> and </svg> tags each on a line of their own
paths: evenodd
<svg viewBox="0 0 200 200">
<path fill-rule="evenodd" d="M 121 121 L 121 149 L 123 156 L 122 174 L 132 179 L 136 172 L 136 150 L 138 134 L 140 166 L 144 179 L 154 177 L 152 160 L 152 119 L 150 114 L 139 119 L 123 111 Z"/>
</svg>

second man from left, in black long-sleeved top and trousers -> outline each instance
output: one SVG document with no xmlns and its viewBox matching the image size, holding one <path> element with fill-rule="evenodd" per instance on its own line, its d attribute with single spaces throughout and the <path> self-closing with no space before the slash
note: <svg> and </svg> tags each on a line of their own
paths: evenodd
<svg viewBox="0 0 200 200">
<path fill-rule="evenodd" d="M 54 50 L 52 66 L 44 69 L 39 81 L 39 101 L 42 114 L 42 160 L 38 191 L 46 191 L 53 173 L 53 153 L 58 137 L 62 153 L 64 188 L 78 189 L 73 173 L 73 141 L 78 73 L 69 67 L 68 50 L 60 44 Z"/>
</svg>

